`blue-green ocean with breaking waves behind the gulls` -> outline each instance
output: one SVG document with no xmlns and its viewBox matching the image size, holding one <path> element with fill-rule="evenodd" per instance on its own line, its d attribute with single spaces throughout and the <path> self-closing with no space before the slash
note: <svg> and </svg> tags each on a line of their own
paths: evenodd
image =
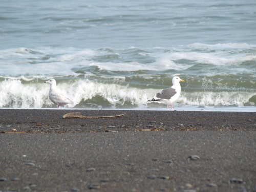
<svg viewBox="0 0 256 192">
<path fill-rule="evenodd" d="M 148 103 L 179 76 L 175 110 L 256 112 L 256 2 L 3 1 L 0 108 L 166 110 Z"/>
</svg>

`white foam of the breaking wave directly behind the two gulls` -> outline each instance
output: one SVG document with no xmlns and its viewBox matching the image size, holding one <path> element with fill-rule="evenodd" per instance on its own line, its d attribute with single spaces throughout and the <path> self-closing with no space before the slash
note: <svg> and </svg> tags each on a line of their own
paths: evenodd
<svg viewBox="0 0 256 192">
<path fill-rule="evenodd" d="M 88 102 L 100 96 L 113 108 L 123 105 L 146 106 L 147 100 L 155 93 L 156 89 L 138 89 L 129 84 L 95 82 L 89 79 L 60 82 L 57 87 L 61 93 L 75 103 Z M 45 83 L 26 83 L 21 80 L 4 80 L 0 82 L 0 108 L 46 108 L 55 105 L 49 100 L 49 85 Z M 249 99 L 254 93 L 246 91 L 237 92 L 185 92 L 182 91 L 178 103 L 194 106 L 244 106 L 254 105 Z M 95 105 L 101 106 L 102 100 Z M 79 106 L 79 105 L 78 105 Z M 76 107 L 76 106 L 75 106 Z"/>
</svg>

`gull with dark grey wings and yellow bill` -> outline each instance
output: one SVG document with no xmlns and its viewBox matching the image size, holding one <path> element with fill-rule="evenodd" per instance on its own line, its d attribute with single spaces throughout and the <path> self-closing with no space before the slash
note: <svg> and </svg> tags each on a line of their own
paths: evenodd
<svg viewBox="0 0 256 192">
<path fill-rule="evenodd" d="M 160 93 L 157 93 L 153 99 L 147 100 L 151 101 L 167 101 L 167 110 L 168 110 L 168 100 L 170 101 L 170 106 L 173 110 L 173 102 L 177 100 L 180 96 L 180 81 L 185 82 L 180 77 L 173 77 L 172 82 L 173 86 L 167 89 L 162 90 Z"/>
</svg>

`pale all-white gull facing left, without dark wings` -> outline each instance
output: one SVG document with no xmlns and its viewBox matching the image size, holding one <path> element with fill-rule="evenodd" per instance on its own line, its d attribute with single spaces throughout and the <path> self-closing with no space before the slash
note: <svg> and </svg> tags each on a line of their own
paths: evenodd
<svg viewBox="0 0 256 192">
<path fill-rule="evenodd" d="M 66 104 L 73 104 L 74 102 L 71 101 L 69 98 L 63 96 L 56 87 L 56 80 L 55 79 L 49 79 L 48 81 L 45 81 L 46 83 L 50 83 L 50 91 L 49 91 L 49 98 L 50 100 L 56 104 L 59 108 L 59 106 L 64 106 Z"/>
</svg>

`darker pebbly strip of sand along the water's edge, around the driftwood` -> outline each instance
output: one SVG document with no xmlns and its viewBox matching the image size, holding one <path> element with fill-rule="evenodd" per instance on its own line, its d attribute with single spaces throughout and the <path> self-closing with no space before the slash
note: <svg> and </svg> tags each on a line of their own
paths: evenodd
<svg viewBox="0 0 256 192">
<path fill-rule="evenodd" d="M 86 116 L 112 118 L 63 119 L 67 113 L 80 112 Z M 27 133 L 104 132 L 136 130 L 193 131 L 255 131 L 254 112 L 194 112 L 194 111 L 136 111 L 136 110 L 37 110 L 0 109 L 0 131 Z"/>
</svg>

